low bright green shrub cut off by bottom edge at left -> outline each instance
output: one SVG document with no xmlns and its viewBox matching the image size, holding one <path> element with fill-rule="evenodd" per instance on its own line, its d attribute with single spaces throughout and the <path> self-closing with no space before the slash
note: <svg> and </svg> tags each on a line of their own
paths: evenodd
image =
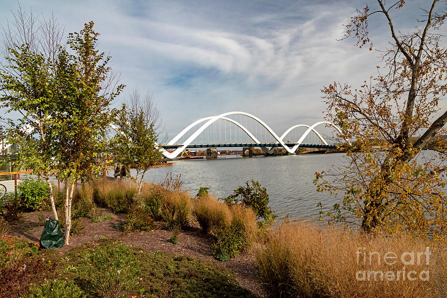
<svg viewBox="0 0 447 298">
<path fill-rule="evenodd" d="M 85 293 L 73 281 L 55 280 L 40 286 L 31 284 L 26 298 L 86 298 Z"/>
</svg>

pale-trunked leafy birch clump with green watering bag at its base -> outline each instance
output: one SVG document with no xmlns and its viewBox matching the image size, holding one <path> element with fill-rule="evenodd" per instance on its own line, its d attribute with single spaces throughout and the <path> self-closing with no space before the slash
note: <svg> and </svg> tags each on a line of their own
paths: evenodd
<svg viewBox="0 0 447 298">
<path fill-rule="evenodd" d="M 2 107 L 18 111 L 18 122 L 9 121 L 8 142 L 20 146 L 18 160 L 43 174 L 65 181 L 65 243 L 69 244 L 75 182 L 104 168 L 99 155 L 117 111 L 110 103 L 124 85 L 116 84 L 107 66 L 110 57 L 96 49 L 99 33 L 93 22 L 69 34 L 57 56 L 46 57 L 30 44 L 9 48 L 9 62 L 1 72 Z"/>
</svg>

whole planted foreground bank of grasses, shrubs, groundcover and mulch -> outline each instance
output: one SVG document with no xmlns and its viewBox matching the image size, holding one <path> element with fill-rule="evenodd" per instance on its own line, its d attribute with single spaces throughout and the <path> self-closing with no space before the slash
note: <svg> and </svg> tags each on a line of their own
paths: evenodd
<svg viewBox="0 0 447 298">
<path fill-rule="evenodd" d="M 85 183 L 74 195 L 71 245 L 39 250 L 36 242 L 51 214 L 44 188 L 45 183 L 28 181 L 15 206 L 14 200 L 2 202 L 2 297 L 441 298 L 447 293 L 442 243 L 403 231 L 364 234 L 287 218 L 274 224 L 266 190 L 255 181 L 225 200 L 207 188 L 192 197 L 182 190 L 180 177 L 172 176 L 145 184 L 138 195 L 128 181 Z M 58 208 L 63 204 L 60 194 L 55 202 Z M 63 226 L 64 219 L 60 222 Z"/>
</svg>

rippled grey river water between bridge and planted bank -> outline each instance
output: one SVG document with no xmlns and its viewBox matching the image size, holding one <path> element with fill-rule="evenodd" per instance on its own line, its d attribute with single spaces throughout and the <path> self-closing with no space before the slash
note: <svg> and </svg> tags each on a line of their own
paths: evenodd
<svg viewBox="0 0 447 298">
<path fill-rule="evenodd" d="M 279 217 L 310 219 L 318 216 L 318 202 L 331 207 L 339 201 L 329 193 L 316 192 L 312 181 L 315 172 L 340 165 L 342 157 L 342 153 L 332 153 L 173 160 L 172 166 L 150 169 L 145 180 L 157 183 L 169 172 L 173 177 L 181 174 L 183 188 L 192 196 L 199 187 L 209 187 L 209 193 L 224 198 L 253 179 L 267 189 L 269 205 Z"/>
</svg>

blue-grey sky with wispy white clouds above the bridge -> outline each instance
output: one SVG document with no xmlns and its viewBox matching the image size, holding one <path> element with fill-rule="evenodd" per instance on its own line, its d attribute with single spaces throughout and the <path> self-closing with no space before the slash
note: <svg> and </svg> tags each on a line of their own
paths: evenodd
<svg viewBox="0 0 447 298">
<path fill-rule="evenodd" d="M 65 24 L 66 35 L 90 20 L 99 50 L 112 57 L 125 90 L 149 91 L 169 138 L 203 117 L 244 111 L 282 134 L 321 121 L 321 88 L 334 81 L 359 85 L 377 74 L 376 51 L 355 47 L 342 24 L 373 0 L 144 1 L 20 0 L 22 10 Z M 412 30 L 425 0 L 391 10 L 402 32 Z M 0 25 L 16 0 L 0 0 Z M 370 21 L 374 46 L 386 45 L 383 15 Z M 442 105 L 445 103 L 442 102 Z"/>
</svg>

